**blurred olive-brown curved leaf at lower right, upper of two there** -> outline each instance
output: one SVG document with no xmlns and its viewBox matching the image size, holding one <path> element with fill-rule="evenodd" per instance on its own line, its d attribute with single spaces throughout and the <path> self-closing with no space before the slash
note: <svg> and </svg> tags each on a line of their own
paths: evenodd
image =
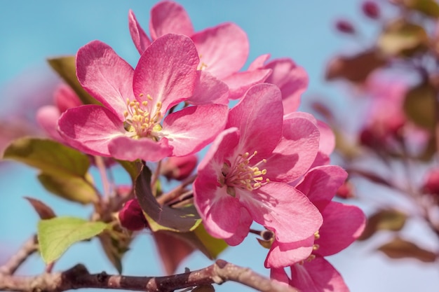
<svg viewBox="0 0 439 292">
<path fill-rule="evenodd" d="M 399 231 L 405 225 L 407 215 L 398 210 L 381 210 L 367 219 L 365 230 L 358 240 L 365 240 L 378 230 Z"/>
</svg>

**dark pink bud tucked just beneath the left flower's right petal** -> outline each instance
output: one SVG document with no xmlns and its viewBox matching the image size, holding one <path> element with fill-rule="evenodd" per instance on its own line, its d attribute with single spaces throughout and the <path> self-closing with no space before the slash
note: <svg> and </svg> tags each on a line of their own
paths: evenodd
<svg viewBox="0 0 439 292">
<path fill-rule="evenodd" d="M 187 155 L 182 157 L 171 157 L 163 162 L 161 174 L 167 179 L 177 179 L 182 181 L 194 171 L 198 158 L 196 155 Z"/>
</svg>

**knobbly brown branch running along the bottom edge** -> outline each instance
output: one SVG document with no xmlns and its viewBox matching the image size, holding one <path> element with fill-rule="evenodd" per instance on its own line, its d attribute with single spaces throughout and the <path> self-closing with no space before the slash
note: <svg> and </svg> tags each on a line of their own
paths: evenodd
<svg viewBox="0 0 439 292">
<path fill-rule="evenodd" d="M 0 274 L 1 291 L 61 292 L 78 288 L 108 288 L 147 292 L 171 292 L 180 288 L 236 281 L 263 292 L 297 292 L 295 288 L 263 277 L 252 270 L 224 260 L 201 270 L 167 277 L 128 277 L 105 272 L 90 274 L 83 265 L 65 272 L 45 273 L 35 277 Z"/>
</svg>

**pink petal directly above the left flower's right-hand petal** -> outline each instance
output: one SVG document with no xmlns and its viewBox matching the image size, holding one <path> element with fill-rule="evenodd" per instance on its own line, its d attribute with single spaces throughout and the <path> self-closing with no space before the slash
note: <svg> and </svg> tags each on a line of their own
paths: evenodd
<svg viewBox="0 0 439 292">
<path fill-rule="evenodd" d="M 194 95 L 186 102 L 189 104 L 229 104 L 229 87 L 212 76 L 208 71 L 198 70 Z"/>
</svg>

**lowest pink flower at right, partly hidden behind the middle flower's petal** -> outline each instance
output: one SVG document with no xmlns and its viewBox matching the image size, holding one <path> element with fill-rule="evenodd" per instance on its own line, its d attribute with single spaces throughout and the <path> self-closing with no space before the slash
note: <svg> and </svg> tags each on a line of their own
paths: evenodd
<svg viewBox="0 0 439 292">
<path fill-rule="evenodd" d="M 323 258 L 342 251 L 354 242 L 365 228 L 365 216 L 356 206 L 332 202 L 335 192 L 346 179 L 346 172 L 334 165 L 311 169 L 297 186 L 316 205 L 323 216 L 323 225 L 306 242 L 283 246 L 273 242 L 266 266 L 271 277 L 289 283 L 303 291 L 348 291 L 340 274 Z M 311 249 L 309 242 L 313 241 Z M 288 249 L 286 249 L 288 247 Z M 299 260 L 309 251 L 307 258 Z M 285 265 L 288 260 L 296 261 Z M 291 278 L 283 267 L 289 266 Z"/>
</svg>

